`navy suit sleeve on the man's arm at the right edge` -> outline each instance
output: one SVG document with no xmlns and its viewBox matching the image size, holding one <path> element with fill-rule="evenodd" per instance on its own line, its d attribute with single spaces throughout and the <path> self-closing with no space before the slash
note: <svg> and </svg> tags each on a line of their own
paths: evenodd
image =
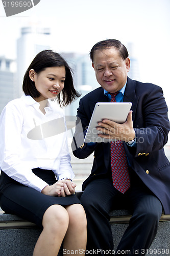
<svg viewBox="0 0 170 256">
<path fill-rule="evenodd" d="M 158 151 L 167 143 L 170 129 L 167 105 L 162 89 L 157 86 L 151 89 L 154 90 L 141 97 L 142 110 L 135 120 L 136 156 Z"/>
</svg>

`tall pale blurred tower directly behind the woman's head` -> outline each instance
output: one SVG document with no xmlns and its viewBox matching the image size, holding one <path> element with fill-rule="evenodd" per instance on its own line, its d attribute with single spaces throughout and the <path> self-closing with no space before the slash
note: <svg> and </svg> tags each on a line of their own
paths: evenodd
<svg viewBox="0 0 170 256">
<path fill-rule="evenodd" d="M 42 50 L 50 49 L 51 32 L 49 28 L 35 26 L 21 28 L 17 40 L 17 87 L 22 95 L 22 81 L 31 61 Z"/>
</svg>

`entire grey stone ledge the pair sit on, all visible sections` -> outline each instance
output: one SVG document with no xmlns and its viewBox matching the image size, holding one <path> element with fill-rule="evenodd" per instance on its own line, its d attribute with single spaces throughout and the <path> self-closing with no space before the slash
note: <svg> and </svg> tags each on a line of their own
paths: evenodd
<svg viewBox="0 0 170 256">
<path fill-rule="evenodd" d="M 128 210 L 114 210 L 110 212 L 110 224 L 113 234 L 114 248 L 117 247 L 123 236 L 130 220 L 130 212 Z M 0 237 L 1 237 L 1 256 L 32 256 L 34 246 L 42 229 L 34 223 L 25 221 L 15 215 L 0 214 Z M 170 255 L 170 216 L 162 214 L 159 222 L 157 236 L 151 245 L 152 250 L 166 250 Z M 152 253 L 150 253 L 152 252 Z M 62 251 L 59 252 L 62 255 Z M 154 255 L 161 255 L 160 253 Z M 162 254 L 163 255 L 163 254 Z"/>
</svg>

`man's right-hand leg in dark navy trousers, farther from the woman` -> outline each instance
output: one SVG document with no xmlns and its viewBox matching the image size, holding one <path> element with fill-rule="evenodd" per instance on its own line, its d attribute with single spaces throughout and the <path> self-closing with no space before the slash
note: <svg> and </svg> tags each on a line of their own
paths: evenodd
<svg viewBox="0 0 170 256">
<path fill-rule="evenodd" d="M 117 255 L 126 250 L 131 250 L 129 255 L 144 255 L 156 236 L 162 205 L 144 184 L 130 188 L 129 197 L 133 215 L 117 247 Z"/>
</svg>

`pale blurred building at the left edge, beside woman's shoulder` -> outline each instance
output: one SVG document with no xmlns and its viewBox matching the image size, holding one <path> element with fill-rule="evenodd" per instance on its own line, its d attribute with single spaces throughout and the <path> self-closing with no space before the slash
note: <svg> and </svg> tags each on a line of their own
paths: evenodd
<svg viewBox="0 0 170 256">
<path fill-rule="evenodd" d="M 14 60 L 0 57 L 0 114 L 4 106 L 17 97 L 14 64 Z"/>
</svg>

